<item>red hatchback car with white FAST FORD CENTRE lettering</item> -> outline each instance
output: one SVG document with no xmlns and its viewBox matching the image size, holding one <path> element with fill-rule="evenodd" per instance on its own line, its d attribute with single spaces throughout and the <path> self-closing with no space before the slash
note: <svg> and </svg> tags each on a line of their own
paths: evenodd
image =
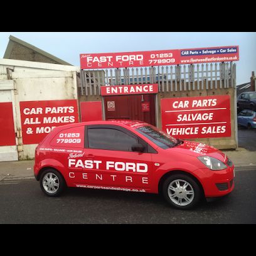
<svg viewBox="0 0 256 256">
<path fill-rule="evenodd" d="M 36 147 L 35 178 L 43 192 L 68 187 L 162 193 L 176 208 L 234 188 L 234 166 L 212 146 L 174 139 L 136 120 L 56 127 Z"/>
</svg>

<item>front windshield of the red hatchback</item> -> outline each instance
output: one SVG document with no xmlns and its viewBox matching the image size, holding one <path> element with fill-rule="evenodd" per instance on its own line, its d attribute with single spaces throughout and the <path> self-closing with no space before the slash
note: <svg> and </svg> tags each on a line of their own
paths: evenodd
<svg viewBox="0 0 256 256">
<path fill-rule="evenodd" d="M 183 143 L 183 141 L 169 136 L 152 125 L 140 127 L 136 130 L 163 149 L 168 149 L 169 147 L 174 147 Z"/>
</svg>

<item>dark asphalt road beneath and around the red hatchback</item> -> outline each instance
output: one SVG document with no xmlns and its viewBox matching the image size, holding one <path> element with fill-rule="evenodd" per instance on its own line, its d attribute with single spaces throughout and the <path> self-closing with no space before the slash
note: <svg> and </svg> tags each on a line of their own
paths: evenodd
<svg viewBox="0 0 256 256">
<path fill-rule="evenodd" d="M 0 223 L 256 223 L 256 169 L 236 171 L 235 189 L 195 210 L 176 210 L 161 196 L 68 188 L 57 198 L 38 181 L 0 183 Z"/>
</svg>

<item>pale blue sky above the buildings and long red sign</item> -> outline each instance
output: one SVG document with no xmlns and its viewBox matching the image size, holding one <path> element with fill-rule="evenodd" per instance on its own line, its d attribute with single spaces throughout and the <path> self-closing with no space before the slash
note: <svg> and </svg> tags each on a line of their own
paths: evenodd
<svg viewBox="0 0 256 256">
<path fill-rule="evenodd" d="M 0 58 L 9 36 L 80 66 L 80 53 L 154 51 L 239 46 L 237 85 L 256 73 L 256 32 L 0 32 Z"/>
</svg>

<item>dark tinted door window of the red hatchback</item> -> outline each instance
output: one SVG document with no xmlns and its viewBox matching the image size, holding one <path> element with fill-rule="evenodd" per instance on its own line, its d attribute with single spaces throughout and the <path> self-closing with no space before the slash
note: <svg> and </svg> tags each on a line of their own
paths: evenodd
<svg viewBox="0 0 256 256">
<path fill-rule="evenodd" d="M 90 149 L 107 149 L 115 151 L 132 151 L 138 143 L 136 136 L 112 128 L 88 127 L 88 147 Z"/>
</svg>

